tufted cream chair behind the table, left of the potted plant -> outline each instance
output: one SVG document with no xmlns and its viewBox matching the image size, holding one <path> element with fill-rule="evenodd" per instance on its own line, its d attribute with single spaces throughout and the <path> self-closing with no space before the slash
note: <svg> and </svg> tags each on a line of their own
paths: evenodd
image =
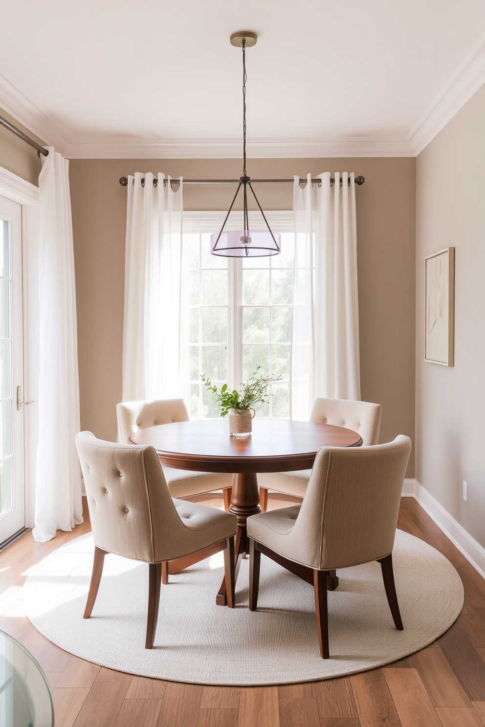
<svg viewBox="0 0 485 727">
<path fill-rule="evenodd" d="M 129 435 L 139 429 L 170 422 L 188 422 L 188 411 L 183 399 L 155 401 L 124 401 L 116 406 L 119 439 L 129 443 Z M 231 503 L 233 475 L 215 472 L 191 472 L 163 467 L 165 480 L 172 497 L 190 497 L 213 490 L 223 490 L 226 513 Z"/>
</svg>

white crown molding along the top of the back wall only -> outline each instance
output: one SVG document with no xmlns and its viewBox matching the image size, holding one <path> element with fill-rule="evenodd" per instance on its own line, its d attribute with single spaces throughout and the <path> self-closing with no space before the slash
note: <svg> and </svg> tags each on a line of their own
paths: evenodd
<svg viewBox="0 0 485 727">
<path fill-rule="evenodd" d="M 72 142 L 65 150 L 71 159 L 238 159 L 241 139 L 118 139 Z M 347 139 L 251 139 L 249 158 L 332 158 L 344 156 L 414 156 L 405 139 L 349 137 Z"/>
</svg>

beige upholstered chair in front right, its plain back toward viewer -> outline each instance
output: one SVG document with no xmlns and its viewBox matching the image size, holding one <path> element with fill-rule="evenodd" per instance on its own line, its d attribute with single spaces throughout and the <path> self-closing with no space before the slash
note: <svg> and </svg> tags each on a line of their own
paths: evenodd
<svg viewBox="0 0 485 727">
<path fill-rule="evenodd" d="M 249 608 L 257 608 L 261 553 L 313 585 L 322 658 L 329 658 L 329 571 L 378 561 L 397 630 L 403 629 L 393 576 L 393 545 L 411 440 L 322 447 L 301 505 L 247 518 Z"/>
</svg>

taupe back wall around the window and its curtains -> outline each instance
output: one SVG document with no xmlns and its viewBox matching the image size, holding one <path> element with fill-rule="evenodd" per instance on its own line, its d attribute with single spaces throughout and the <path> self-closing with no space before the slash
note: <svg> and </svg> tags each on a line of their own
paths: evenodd
<svg viewBox="0 0 485 727">
<path fill-rule="evenodd" d="M 249 160 L 252 177 L 353 171 L 356 189 L 362 398 L 382 403 L 381 441 L 414 437 L 414 158 Z M 121 400 L 127 190 L 119 177 L 163 172 L 236 178 L 239 160 L 71 160 L 81 427 L 116 438 Z M 184 209 L 227 209 L 232 187 L 185 187 Z M 292 209 L 292 185 L 258 188 L 263 209 Z M 408 476 L 414 476 L 414 462 Z"/>
</svg>

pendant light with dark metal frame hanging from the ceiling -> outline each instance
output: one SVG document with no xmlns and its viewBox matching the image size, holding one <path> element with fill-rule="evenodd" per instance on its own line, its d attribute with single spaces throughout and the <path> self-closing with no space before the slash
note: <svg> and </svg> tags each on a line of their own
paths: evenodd
<svg viewBox="0 0 485 727">
<path fill-rule="evenodd" d="M 225 216 L 223 226 L 220 233 L 211 235 L 211 252 L 213 255 L 222 255 L 223 257 L 268 257 L 268 255 L 277 255 L 280 252 L 280 239 L 278 233 L 271 232 L 271 228 L 266 220 L 265 213 L 261 209 L 261 205 L 254 193 L 251 180 L 246 174 L 246 48 L 256 45 L 257 35 L 252 31 L 239 31 L 231 36 L 231 44 L 242 48 L 243 51 L 243 176 L 239 177 L 239 186 L 234 195 L 228 214 Z M 243 230 L 228 231 L 224 230 L 225 223 L 233 209 L 239 191 L 243 188 Z M 266 230 L 249 230 L 249 217 L 247 211 L 247 190 L 251 190 L 252 196 L 256 200 L 256 204 L 265 221 Z"/>
</svg>

